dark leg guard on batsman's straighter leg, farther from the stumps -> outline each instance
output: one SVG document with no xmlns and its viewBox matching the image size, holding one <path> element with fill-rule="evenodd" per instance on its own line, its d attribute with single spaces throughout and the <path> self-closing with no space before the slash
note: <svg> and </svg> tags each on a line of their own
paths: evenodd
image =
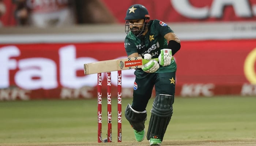
<svg viewBox="0 0 256 146">
<path fill-rule="evenodd" d="M 160 94 L 155 97 L 147 131 L 148 140 L 157 138 L 163 141 L 163 136 L 173 114 L 173 102 L 174 97 L 172 95 Z"/>
</svg>

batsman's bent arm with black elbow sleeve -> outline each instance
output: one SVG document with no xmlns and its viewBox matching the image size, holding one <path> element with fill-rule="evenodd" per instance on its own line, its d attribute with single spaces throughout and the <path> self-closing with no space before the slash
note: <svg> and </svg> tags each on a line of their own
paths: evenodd
<svg viewBox="0 0 256 146">
<path fill-rule="evenodd" d="M 167 49 L 172 49 L 172 55 L 174 55 L 178 50 L 180 50 L 180 39 L 174 32 L 167 33 L 164 38 L 169 41 Z"/>
</svg>

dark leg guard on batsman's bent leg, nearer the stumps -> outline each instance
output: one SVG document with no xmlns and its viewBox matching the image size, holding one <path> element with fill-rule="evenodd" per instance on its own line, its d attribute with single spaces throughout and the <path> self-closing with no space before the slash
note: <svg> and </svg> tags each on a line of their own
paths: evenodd
<svg viewBox="0 0 256 146">
<path fill-rule="evenodd" d="M 133 110 L 130 104 L 125 109 L 125 118 L 129 121 L 132 128 L 137 131 L 142 131 L 145 128 L 145 121 L 147 120 L 147 111 L 138 112 Z"/>
</svg>

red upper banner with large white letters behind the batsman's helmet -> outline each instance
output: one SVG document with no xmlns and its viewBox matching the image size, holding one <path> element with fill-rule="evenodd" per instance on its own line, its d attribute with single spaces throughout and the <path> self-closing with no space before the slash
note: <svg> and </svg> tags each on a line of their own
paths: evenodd
<svg viewBox="0 0 256 146">
<path fill-rule="evenodd" d="M 151 19 L 164 22 L 235 22 L 256 20 L 256 0 L 102 0 L 118 22 L 127 8 L 144 5 Z M 118 5 L 118 7 L 117 7 Z"/>
</svg>

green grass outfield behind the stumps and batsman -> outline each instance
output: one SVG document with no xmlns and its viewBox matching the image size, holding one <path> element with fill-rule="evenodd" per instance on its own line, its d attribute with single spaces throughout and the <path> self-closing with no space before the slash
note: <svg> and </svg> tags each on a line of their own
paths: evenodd
<svg viewBox="0 0 256 146">
<path fill-rule="evenodd" d="M 132 99 L 122 99 L 122 110 Z M 153 99 L 149 101 L 147 118 Z M 102 135 L 107 133 L 107 104 L 102 104 Z M 256 97 L 176 97 L 174 114 L 162 145 L 256 145 Z M 146 121 L 146 130 L 149 120 Z M 112 99 L 111 144 L 97 143 L 97 100 L 0 102 L 0 146 L 14 145 L 149 145 L 136 142 L 122 118 L 117 143 L 117 99 Z"/>
</svg>

